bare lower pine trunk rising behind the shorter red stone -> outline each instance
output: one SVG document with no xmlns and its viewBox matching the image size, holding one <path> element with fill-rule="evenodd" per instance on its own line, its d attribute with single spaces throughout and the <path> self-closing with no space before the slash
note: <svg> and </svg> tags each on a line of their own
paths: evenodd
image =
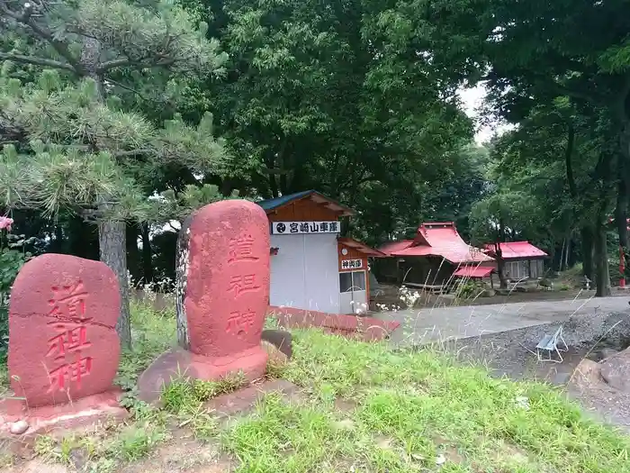
<svg viewBox="0 0 630 473">
<path fill-rule="evenodd" d="M 101 261 L 112 268 L 118 278 L 121 293 L 121 315 L 116 323 L 116 332 L 121 346 L 131 348 L 131 324 L 129 308 L 129 284 L 127 281 L 127 252 L 125 223 L 103 221 L 98 224 L 98 242 Z"/>
</svg>

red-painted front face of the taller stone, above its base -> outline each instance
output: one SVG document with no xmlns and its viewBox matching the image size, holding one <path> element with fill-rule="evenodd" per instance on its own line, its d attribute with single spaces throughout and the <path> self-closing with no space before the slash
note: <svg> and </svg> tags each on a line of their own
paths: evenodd
<svg viewBox="0 0 630 473">
<path fill-rule="evenodd" d="M 244 200 L 206 205 L 190 223 L 184 298 L 189 349 L 236 356 L 260 345 L 269 301 L 269 221 Z"/>
</svg>

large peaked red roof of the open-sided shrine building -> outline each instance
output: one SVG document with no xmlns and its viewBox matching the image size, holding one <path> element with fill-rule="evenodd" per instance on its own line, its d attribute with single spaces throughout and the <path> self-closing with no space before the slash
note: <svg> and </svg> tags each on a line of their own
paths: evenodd
<svg viewBox="0 0 630 473">
<path fill-rule="evenodd" d="M 379 250 L 390 256 L 437 256 L 452 263 L 492 261 L 479 248 L 466 244 L 455 229 L 455 223 L 422 223 L 416 240 L 392 241 Z"/>
</svg>

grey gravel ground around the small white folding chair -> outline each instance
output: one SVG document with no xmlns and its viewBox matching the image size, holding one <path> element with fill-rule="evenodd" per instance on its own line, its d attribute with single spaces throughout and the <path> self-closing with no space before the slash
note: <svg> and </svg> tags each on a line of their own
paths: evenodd
<svg viewBox="0 0 630 473">
<path fill-rule="evenodd" d="M 594 417 L 630 432 L 630 393 L 614 389 L 599 379 L 574 375 L 583 359 L 592 360 L 594 365 L 630 346 L 630 311 L 573 315 L 563 323 L 564 339 L 569 346 L 563 353 L 563 361 L 539 361 L 537 342 L 545 333 L 553 333 L 557 328 L 558 323 L 546 323 L 447 341 L 437 346 L 455 352 L 464 362 L 486 364 L 496 376 L 536 379 L 563 388 Z"/>
</svg>

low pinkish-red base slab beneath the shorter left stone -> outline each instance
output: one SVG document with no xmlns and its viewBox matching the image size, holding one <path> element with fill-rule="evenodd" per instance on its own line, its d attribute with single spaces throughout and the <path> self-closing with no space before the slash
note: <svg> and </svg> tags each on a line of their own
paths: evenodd
<svg viewBox="0 0 630 473">
<path fill-rule="evenodd" d="M 85 432 L 99 424 L 120 423 L 129 415 L 120 405 L 121 396 L 120 389 L 112 389 L 63 405 L 39 407 L 29 407 L 20 399 L 4 399 L 0 402 L 0 439 L 28 446 L 42 434 Z"/>
</svg>

